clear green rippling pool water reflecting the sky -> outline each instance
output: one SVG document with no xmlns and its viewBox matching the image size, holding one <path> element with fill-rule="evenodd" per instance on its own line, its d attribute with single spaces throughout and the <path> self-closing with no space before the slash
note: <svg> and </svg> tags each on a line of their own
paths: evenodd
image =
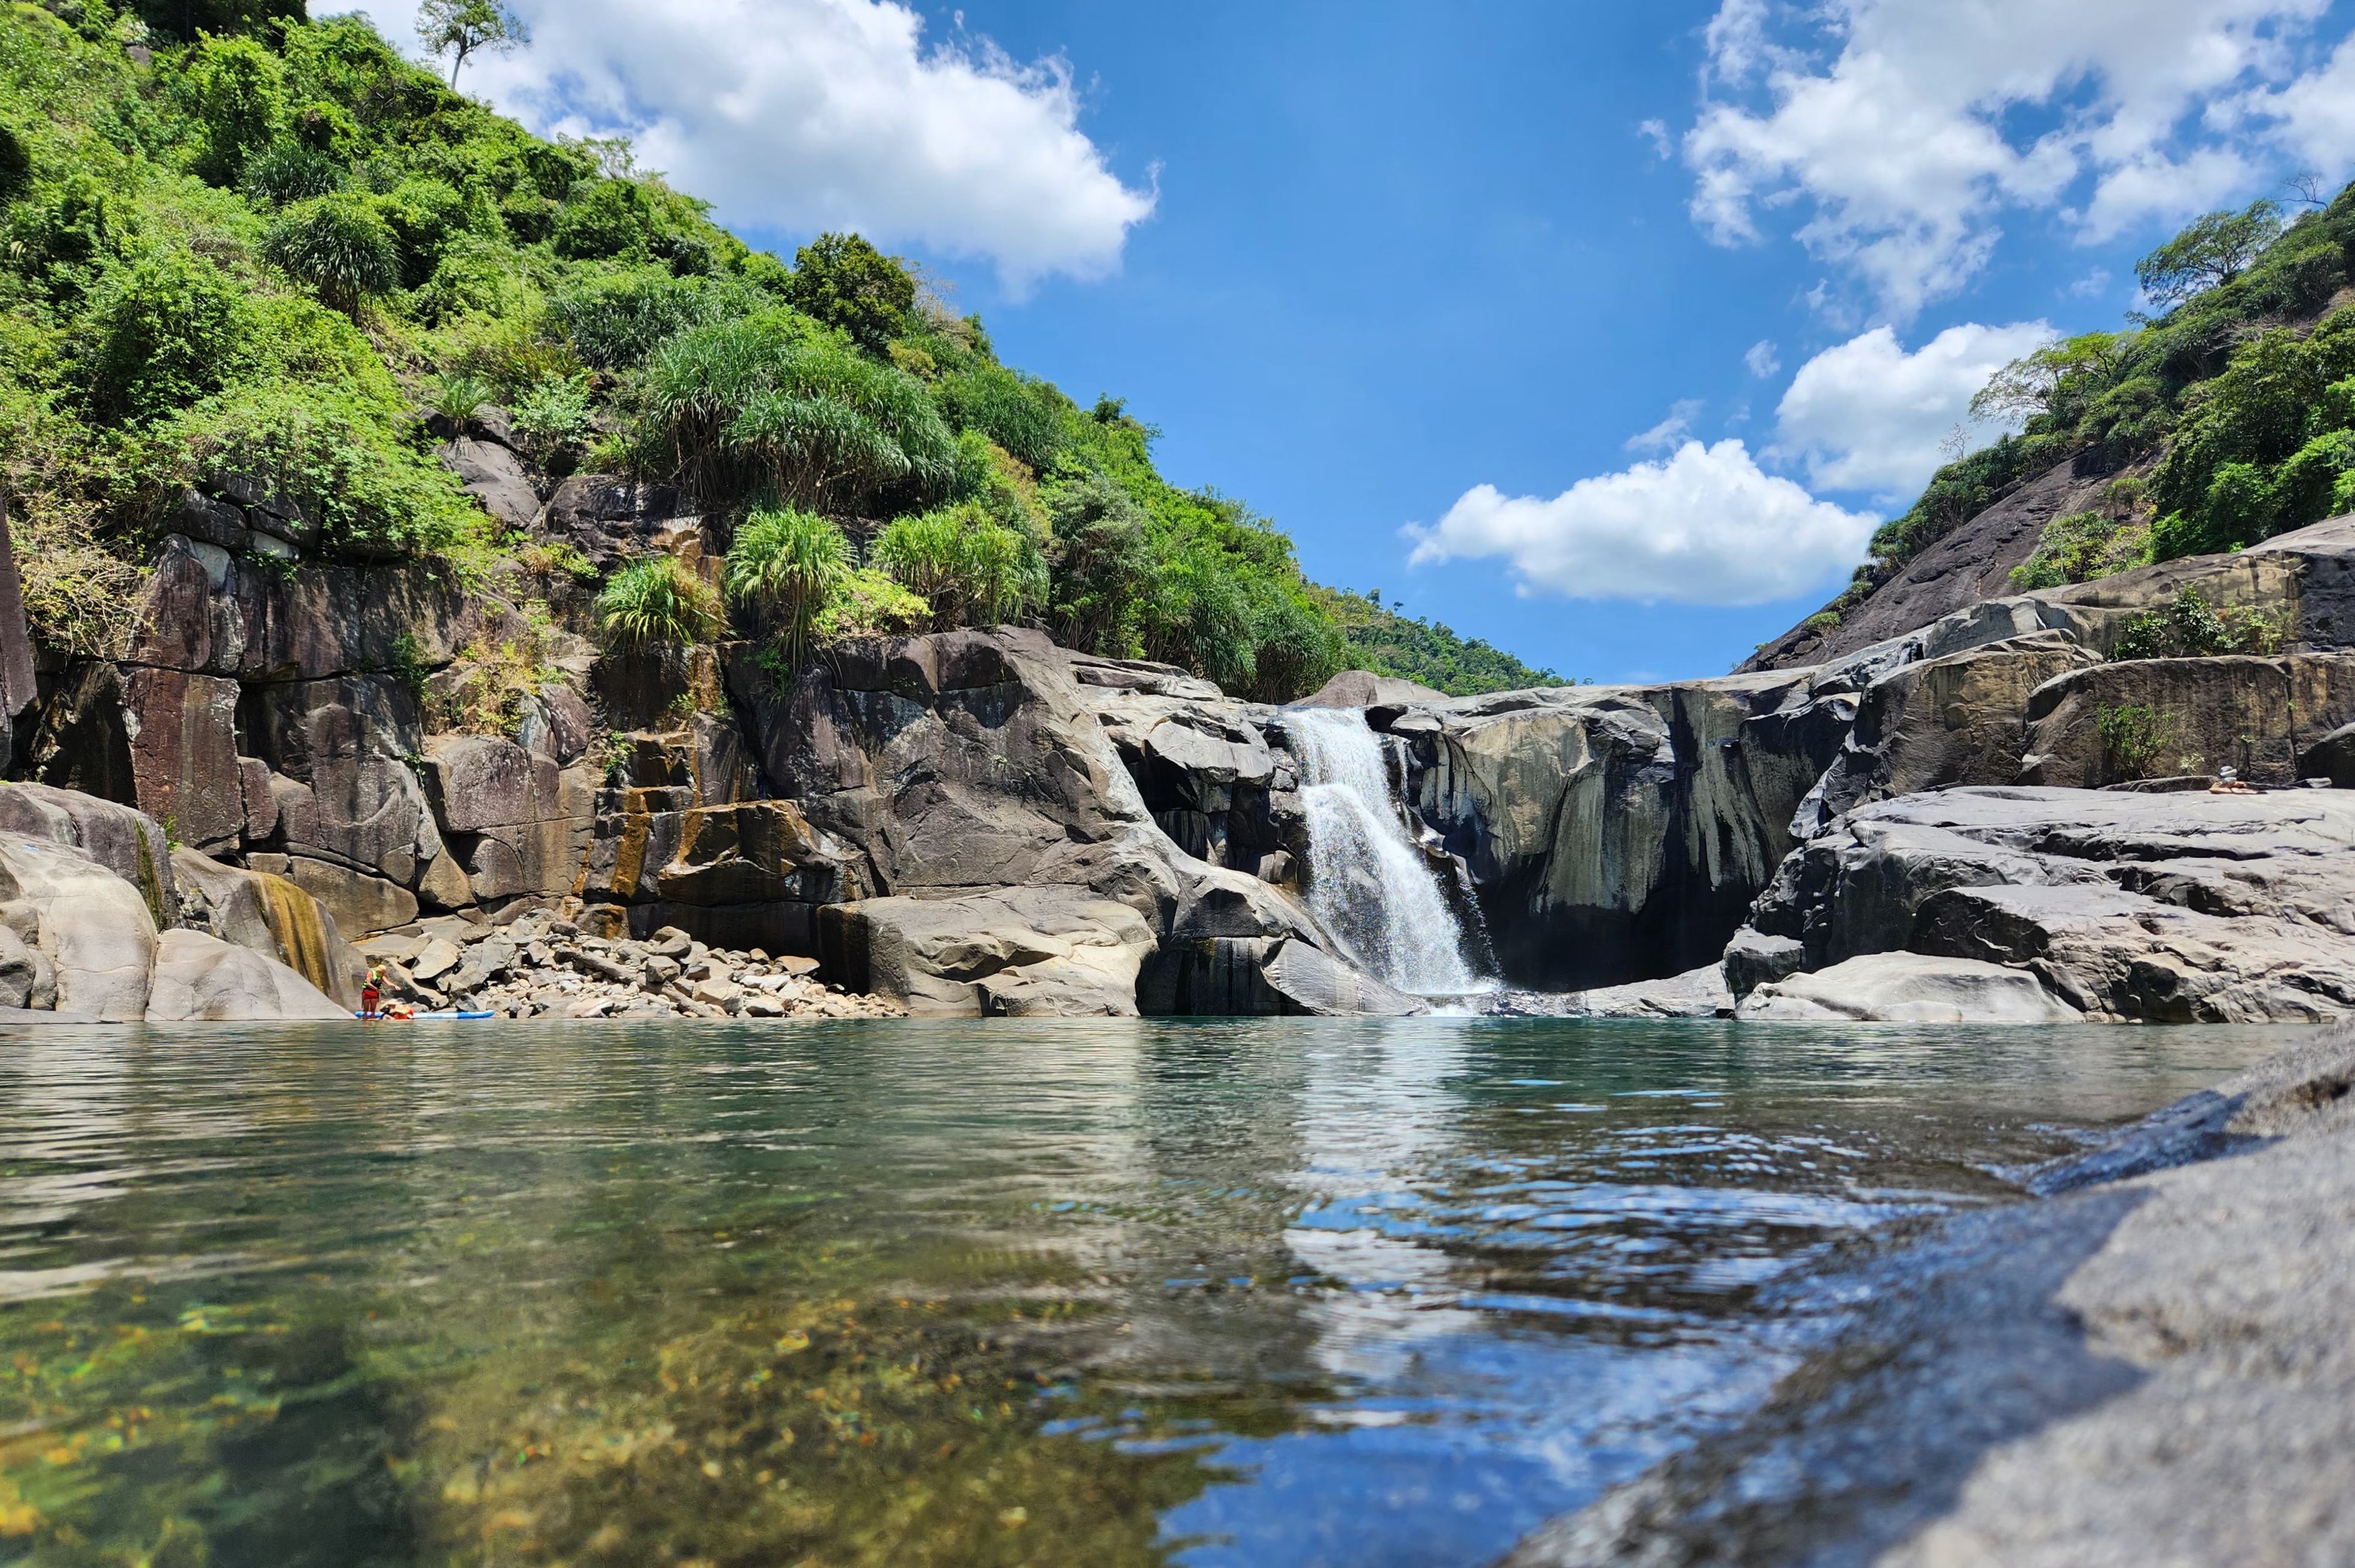
<svg viewBox="0 0 2355 1568">
<path fill-rule="evenodd" d="M 2280 1043 L 0 1029 L 0 1561 L 1474 1568 Z"/>
</svg>

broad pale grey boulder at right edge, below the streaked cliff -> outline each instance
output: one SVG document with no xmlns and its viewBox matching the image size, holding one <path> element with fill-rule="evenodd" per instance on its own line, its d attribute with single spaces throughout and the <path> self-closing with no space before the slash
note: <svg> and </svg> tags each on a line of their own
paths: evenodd
<svg viewBox="0 0 2355 1568">
<path fill-rule="evenodd" d="M 1860 808 L 1792 852 L 1733 946 L 1797 944 L 1818 972 L 1898 951 L 1997 963 L 2094 1019 L 2346 1017 L 2350 850 L 2355 793 L 2329 789 L 1950 789 Z"/>
</svg>

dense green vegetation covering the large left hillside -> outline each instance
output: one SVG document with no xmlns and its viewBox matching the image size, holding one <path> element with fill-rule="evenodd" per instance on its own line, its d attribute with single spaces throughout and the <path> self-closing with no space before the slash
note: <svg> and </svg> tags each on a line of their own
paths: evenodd
<svg viewBox="0 0 2355 1568">
<path fill-rule="evenodd" d="M 591 577 L 438 461 L 429 426 L 487 407 L 549 476 L 728 518 L 718 589 L 669 558 L 593 584 L 619 643 L 791 662 L 1022 622 L 1276 702 L 1356 657 L 1267 518 L 1166 483 L 1121 400 L 1003 365 L 857 235 L 756 252 L 626 144 L 542 141 L 299 0 L 0 2 L 0 487 L 38 640 L 106 652 L 170 506 L 224 473 L 330 558 Z M 1392 673 L 1535 673 L 1392 645 Z"/>
</svg>

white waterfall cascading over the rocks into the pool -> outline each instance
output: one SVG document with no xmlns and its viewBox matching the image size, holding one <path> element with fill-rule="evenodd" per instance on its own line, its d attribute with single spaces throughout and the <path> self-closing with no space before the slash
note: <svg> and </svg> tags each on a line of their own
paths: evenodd
<svg viewBox="0 0 2355 1568">
<path fill-rule="evenodd" d="M 1439 876 L 1406 836 L 1382 742 L 1354 709 L 1283 716 L 1309 817 L 1309 909 L 1368 975 L 1415 996 L 1486 986 Z"/>
</svg>

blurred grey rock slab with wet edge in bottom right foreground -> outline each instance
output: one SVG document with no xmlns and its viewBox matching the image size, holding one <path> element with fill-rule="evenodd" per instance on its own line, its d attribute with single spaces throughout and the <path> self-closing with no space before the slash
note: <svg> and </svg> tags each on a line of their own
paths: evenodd
<svg viewBox="0 0 2355 1568">
<path fill-rule="evenodd" d="M 2341 1026 L 1868 1264 L 1752 1420 L 1507 1568 L 2355 1559 L 2350 1085 Z"/>
</svg>

